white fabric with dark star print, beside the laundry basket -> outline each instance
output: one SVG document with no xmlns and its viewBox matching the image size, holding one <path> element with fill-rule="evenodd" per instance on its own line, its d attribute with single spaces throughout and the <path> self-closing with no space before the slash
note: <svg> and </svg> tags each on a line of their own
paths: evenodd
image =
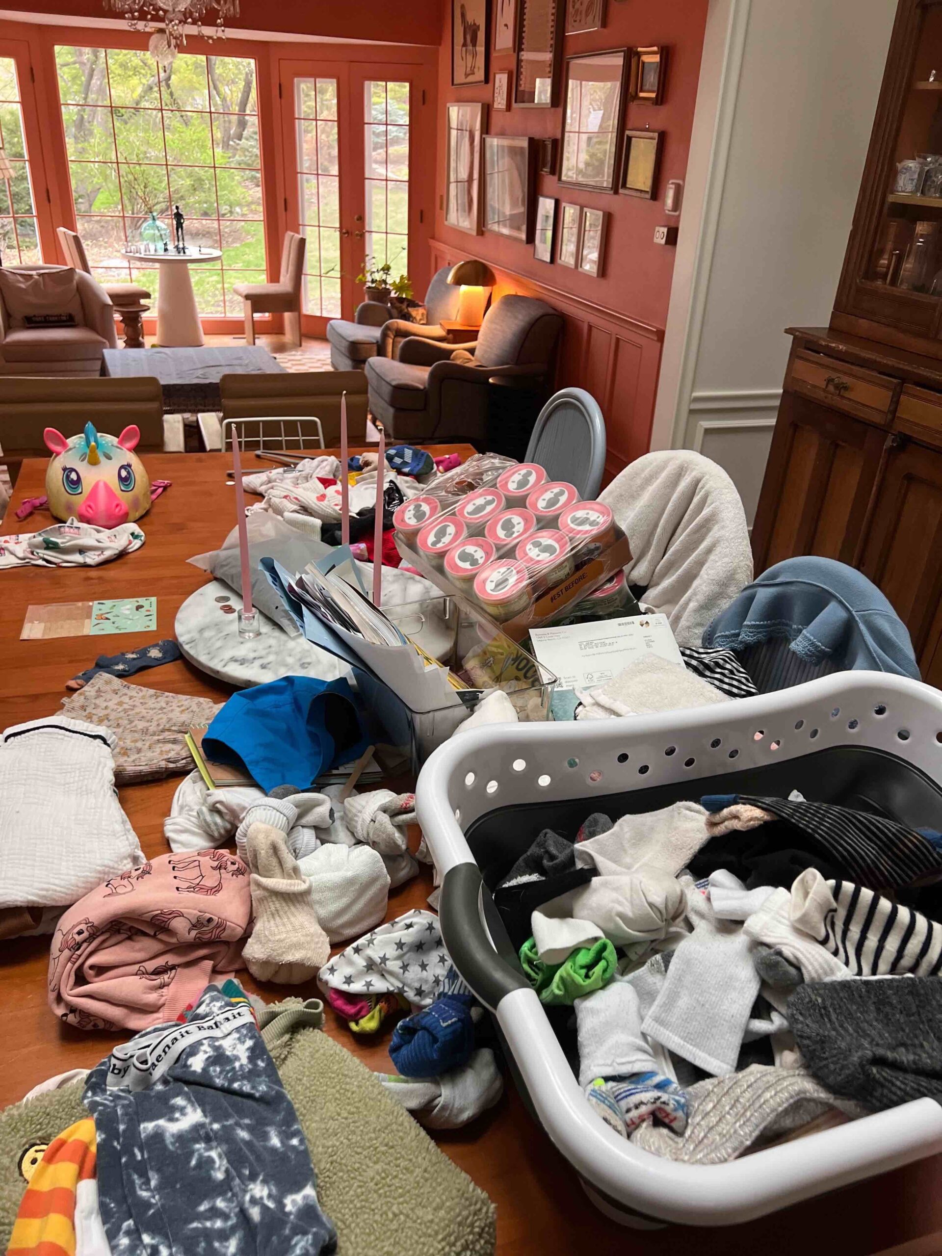
<svg viewBox="0 0 942 1256">
<path fill-rule="evenodd" d="M 318 983 L 345 995 L 403 995 L 417 1007 L 428 1007 L 446 987 L 468 988 L 452 968 L 437 917 L 420 908 L 381 924 L 334 956 L 320 970 Z"/>
</svg>

